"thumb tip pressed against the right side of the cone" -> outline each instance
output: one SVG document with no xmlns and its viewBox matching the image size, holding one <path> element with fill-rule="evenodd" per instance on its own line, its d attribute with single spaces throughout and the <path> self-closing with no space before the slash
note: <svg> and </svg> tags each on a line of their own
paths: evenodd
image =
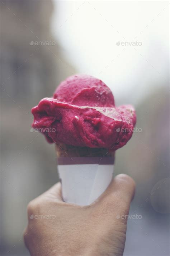
<svg viewBox="0 0 170 256">
<path fill-rule="evenodd" d="M 134 180 L 126 174 L 119 174 L 111 181 L 109 187 L 98 201 L 106 203 L 107 207 L 111 207 L 121 214 L 129 211 L 134 191 Z"/>
</svg>

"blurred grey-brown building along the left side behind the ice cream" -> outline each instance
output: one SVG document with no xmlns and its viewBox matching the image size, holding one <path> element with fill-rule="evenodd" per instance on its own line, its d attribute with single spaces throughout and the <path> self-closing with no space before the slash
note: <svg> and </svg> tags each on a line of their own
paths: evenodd
<svg viewBox="0 0 170 256">
<path fill-rule="evenodd" d="M 28 255 L 27 204 L 58 179 L 54 148 L 29 131 L 31 108 L 75 73 L 50 30 L 52 12 L 51 0 L 0 2 L 2 255 Z"/>
</svg>

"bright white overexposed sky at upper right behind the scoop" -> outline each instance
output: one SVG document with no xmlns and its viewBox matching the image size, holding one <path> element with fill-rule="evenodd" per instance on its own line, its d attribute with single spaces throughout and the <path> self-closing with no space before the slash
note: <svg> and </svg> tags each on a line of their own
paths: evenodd
<svg viewBox="0 0 170 256">
<path fill-rule="evenodd" d="M 103 80 L 121 103 L 169 84 L 168 1 L 53 1 L 52 31 L 77 73 Z"/>
</svg>

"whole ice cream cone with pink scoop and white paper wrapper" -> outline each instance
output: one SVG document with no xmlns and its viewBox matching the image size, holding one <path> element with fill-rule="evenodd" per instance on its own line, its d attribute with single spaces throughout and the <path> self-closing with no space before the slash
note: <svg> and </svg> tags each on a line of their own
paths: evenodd
<svg viewBox="0 0 170 256">
<path fill-rule="evenodd" d="M 74 75 L 62 81 L 51 98 L 40 100 L 32 113 L 32 127 L 41 129 L 49 143 L 57 143 L 63 200 L 78 205 L 94 202 L 112 180 L 111 149 L 123 147 L 132 136 L 133 106 L 116 107 L 103 81 Z"/>
</svg>

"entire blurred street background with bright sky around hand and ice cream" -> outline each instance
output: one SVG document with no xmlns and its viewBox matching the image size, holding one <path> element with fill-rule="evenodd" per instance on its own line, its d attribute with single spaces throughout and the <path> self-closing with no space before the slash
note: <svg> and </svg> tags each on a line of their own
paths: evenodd
<svg viewBox="0 0 170 256">
<path fill-rule="evenodd" d="M 169 1 L 3 0 L 0 12 L 1 255 L 29 255 L 27 204 L 58 180 L 54 145 L 30 130 L 30 110 L 75 73 L 137 111 L 115 162 L 137 184 L 124 256 L 170 255 Z"/>
</svg>

